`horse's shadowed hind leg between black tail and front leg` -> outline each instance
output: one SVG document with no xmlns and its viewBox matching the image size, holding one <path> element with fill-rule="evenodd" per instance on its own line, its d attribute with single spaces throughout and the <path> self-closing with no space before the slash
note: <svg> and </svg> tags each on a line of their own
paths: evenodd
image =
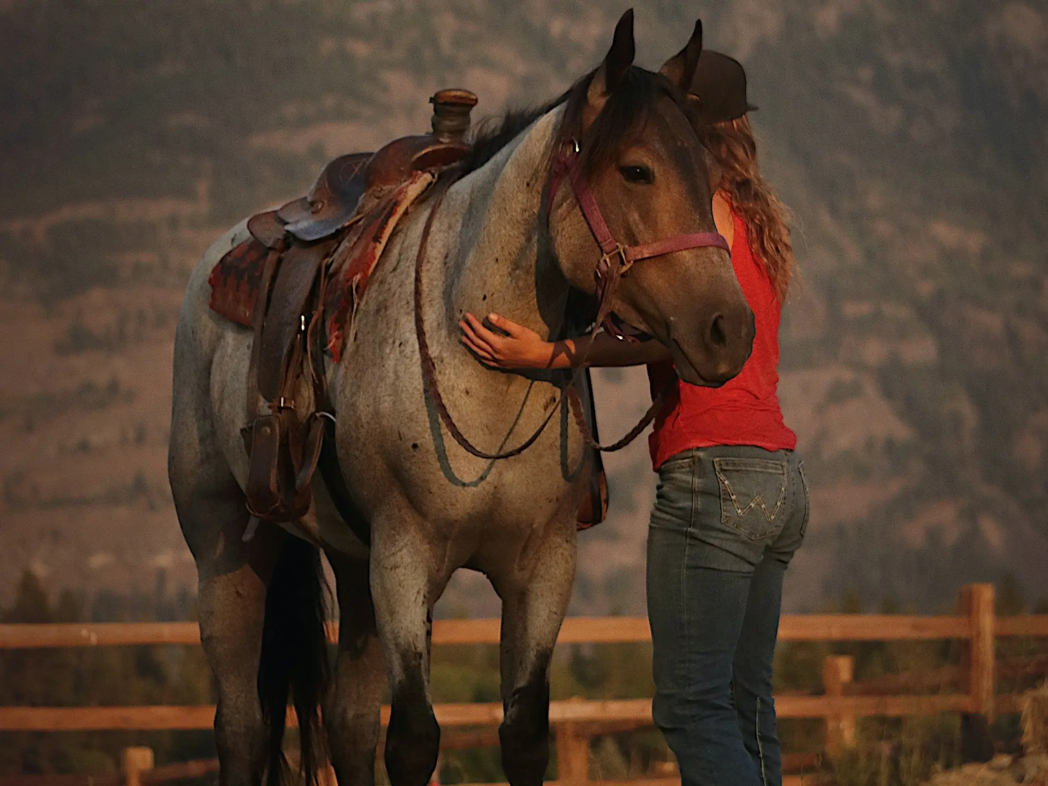
<svg viewBox="0 0 1048 786">
<path fill-rule="evenodd" d="M 375 629 L 368 563 L 328 553 L 339 594 L 339 655 L 324 705 L 331 763 L 341 786 L 373 786 L 386 671 Z"/>
</svg>

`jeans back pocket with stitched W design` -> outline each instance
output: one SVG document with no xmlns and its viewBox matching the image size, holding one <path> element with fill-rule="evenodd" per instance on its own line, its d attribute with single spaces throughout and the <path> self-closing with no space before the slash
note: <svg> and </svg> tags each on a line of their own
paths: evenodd
<svg viewBox="0 0 1048 786">
<path fill-rule="evenodd" d="M 751 541 L 777 536 L 786 523 L 785 461 L 714 459 L 720 484 L 721 523 Z"/>
</svg>

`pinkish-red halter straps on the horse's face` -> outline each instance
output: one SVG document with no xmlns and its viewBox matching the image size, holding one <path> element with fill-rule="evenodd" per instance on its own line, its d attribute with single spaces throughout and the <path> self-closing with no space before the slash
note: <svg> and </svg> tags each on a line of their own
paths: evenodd
<svg viewBox="0 0 1048 786">
<path fill-rule="evenodd" d="M 612 237 L 608 228 L 601 208 L 596 203 L 596 197 L 592 189 L 583 176 L 582 168 L 578 166 L 578 143 L 569 141 L 561 146 L 560 153 L 553 161 L 549 176 L 548 199 L 552 205 L 556 190 L 567 174 L 571 183 L 571 191 L 575 195 L 575 201 L 582 210 L 583 218 L 586 219 L 593 239 L 601 246 L 601 259 L 596 265 L 596 298 L 598 302 L 595 325 L 603 326 L 609 335 L 616 339 L 624 339 L 623 332 L 609 319 L 611 313 L 611 299 L 618 287 L 618 280 L 629 270 L 634 262 L 652 257 L 661 257 L 664 254 L 683 252 L 689 248 L 704 248 L 715 246 L 730 253 L 724 236 L 717 232 L 697 232 L 686 235 L 674 235 L 663 240 L 656 240 L 653 243 L 642 245 L 623 245 Z M 614 260 L 614 261 L 613 261 Z M 595 328 L 594 328 L 595 329 Z"/>
</svg>

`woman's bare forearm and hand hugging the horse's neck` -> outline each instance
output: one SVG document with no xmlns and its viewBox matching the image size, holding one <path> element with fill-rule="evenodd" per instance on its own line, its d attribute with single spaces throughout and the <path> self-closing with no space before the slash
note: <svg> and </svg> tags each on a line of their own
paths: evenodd
<svg viewBox="0 0 1048 786">
<path fill-rule="evenodd" d="M 580 366 L 641 366 L 672 359 L 656 341 L 627 342 L 601 332 L 593 337 L 547 342 L 533 330 L 493 313 L 487 322 L 502 335 L 467 313 L 459 323 L 462 343 L 481 363 L 498 369 L 567 369 Z"/>
</svg>

